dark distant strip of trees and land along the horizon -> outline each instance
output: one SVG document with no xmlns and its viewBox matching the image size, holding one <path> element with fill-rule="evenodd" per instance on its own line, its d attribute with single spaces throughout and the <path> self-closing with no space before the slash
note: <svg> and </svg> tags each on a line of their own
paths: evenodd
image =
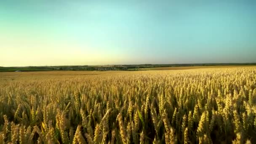
<svg viewBox="0 0 256 144">
<path fill-rule="evenodd" d="M 193 67 L 193 66 L 241 66 L 256 65 L 256 63 L 211 63 L 211 64 L 131 64 L 131 65 L 105 65 L 105 66 L 43 66 L 43 67 L 0 67 L 0 72 L 28 71 L 110 71 L 110 70 L 140 70 L 153 67 Z"/>
</svg>

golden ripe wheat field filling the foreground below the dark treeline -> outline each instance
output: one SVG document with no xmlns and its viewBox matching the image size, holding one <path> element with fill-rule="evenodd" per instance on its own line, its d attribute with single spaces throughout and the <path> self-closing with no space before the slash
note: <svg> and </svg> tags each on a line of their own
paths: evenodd
<svg viewBox="0 0 256 144">
<path fill-rule="evenodd" d="M 0 73 L 0 144 L 251 144 L 256 67 Z"/>
</svg>

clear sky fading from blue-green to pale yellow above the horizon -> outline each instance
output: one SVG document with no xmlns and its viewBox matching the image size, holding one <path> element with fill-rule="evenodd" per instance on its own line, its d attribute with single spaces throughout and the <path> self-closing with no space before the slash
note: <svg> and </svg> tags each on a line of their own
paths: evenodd
<svg viewBox="0 0 256 144">
<path fill-rule="evenodd" d="M 255 0 L 0 0 L 0 66 L 256 62 Z"/>
</svg>

